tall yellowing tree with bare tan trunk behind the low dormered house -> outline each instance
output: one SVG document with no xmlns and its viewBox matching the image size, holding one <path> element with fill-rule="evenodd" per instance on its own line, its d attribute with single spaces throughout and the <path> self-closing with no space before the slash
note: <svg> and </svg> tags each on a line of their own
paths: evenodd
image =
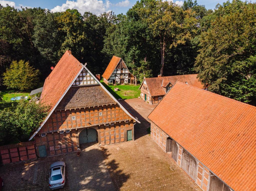
<svg viewBox="0 0 256 191">
<path fill-rule="evenodd" d="M 172 2 L 156 1 L 150 4 L 152 12 L 148 15 L 148 22 L 153 35 L 160 39 L 161 69 L 163 75 L 164 59 L 166 48 L 177 47 L 185 44 L 191 39 L 191 35 L 196 33 L 196 18 L 192 16 L 192 11 L 183 11 L 178 5 Z"/>
</svg>

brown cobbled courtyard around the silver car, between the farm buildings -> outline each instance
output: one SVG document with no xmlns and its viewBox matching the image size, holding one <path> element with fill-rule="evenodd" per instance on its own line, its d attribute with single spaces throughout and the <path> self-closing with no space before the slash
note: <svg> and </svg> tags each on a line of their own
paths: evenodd
<svg viewBox="0 0 256 191">
<path fill-rule="evenodd" d="M 88 144 L 76 153 L 48 157 L 0 167 L 7 190 L 49 190 L 49 166 L 67 164 L 67 183 L 60 190 L 195 190 L 201 189 L 163 152 L 148 134 L 148 114 L 156 105 L 135 98 L 122 101 L 141 124 L 135 124 L 135 141 L 104 146 Z"/>
</svg>

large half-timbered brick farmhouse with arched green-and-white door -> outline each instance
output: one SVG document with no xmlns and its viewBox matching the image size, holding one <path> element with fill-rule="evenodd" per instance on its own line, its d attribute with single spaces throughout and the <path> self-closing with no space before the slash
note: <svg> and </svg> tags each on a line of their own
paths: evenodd
<svg viewBox="0 0 256 191">
<path fill-rule="evenodd" d="M 139 122 L 97 78 L 66 51 L 46 78 L 41 103 L 47 118 L 31 136 L 39 157 L 76 151 L 81 144 L 115 144 L 134 139 Z"/>
</svg>

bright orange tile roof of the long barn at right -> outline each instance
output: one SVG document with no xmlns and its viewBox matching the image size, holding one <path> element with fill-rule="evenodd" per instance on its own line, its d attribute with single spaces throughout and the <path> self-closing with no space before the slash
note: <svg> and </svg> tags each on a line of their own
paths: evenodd
<svg viewBox="0 0 256 191">
<path fill-rule="evenodd" d="M 256 107 L 176 82 L 148 118 L 233 190 L 256 190 Z"/>
</svg>

